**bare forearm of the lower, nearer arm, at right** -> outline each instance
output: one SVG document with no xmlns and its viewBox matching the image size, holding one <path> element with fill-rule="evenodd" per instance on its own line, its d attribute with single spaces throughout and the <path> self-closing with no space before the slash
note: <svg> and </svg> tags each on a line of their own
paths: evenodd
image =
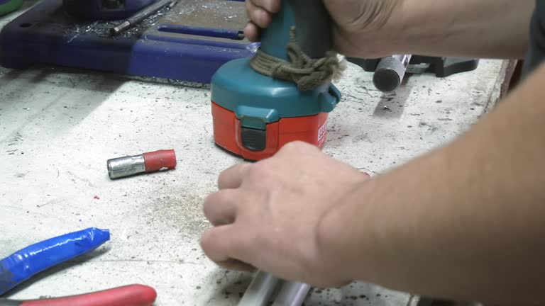
<svg viewBox="0 0 545 306">
<path fill-rule="evenodd" d="M 458 140 L 326 213 L 318 242 L 339 270 L 419 295 L 542 302 L 544 81 L 541 67 Z"/>
</svg>

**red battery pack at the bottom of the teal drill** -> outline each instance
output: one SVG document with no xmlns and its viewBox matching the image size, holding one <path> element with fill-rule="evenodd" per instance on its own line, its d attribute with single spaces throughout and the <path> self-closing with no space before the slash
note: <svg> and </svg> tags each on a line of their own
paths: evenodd
<svg viewBox="0 0 545 306">
<path fill-rule="evenodd" d="M 214 123 L 214 141 L 216 145 L 244 159 L 258 161 L 272 157 L 278 150 L 293 141 L 304 141 L 324 147 L 327 137 L 328 113 L 319 113 L 295 118 L 281 118 L 269 123 L 265 130 L 265 146 L 263 149 L 249 149 L 243 141 L 241 120 L 234 112 L 221 107 L 212 101 L 212 120 Z"/>
</svg>

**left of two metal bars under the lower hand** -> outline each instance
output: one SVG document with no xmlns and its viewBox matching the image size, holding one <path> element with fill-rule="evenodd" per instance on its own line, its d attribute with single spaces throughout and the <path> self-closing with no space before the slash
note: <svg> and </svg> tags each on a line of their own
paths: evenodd
<svg viewBox="0 0 545 306">
<path fill-rule="evenodd" d="M 269 273 L 258 271 L 252 282 L 246 289 L 238 306 L 265 306 L 268 305 L 270 296 L 274 293 L 280 279 Z"/>
</svg>

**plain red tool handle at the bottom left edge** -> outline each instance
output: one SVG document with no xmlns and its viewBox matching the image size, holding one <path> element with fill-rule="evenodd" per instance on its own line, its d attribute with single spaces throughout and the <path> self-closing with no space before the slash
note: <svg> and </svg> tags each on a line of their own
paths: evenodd
<svg viewBox="0 0 545 306">
<path fill-rule="evenodd" d="M 126 285 L 119 288 L 54 297 L 44 300 L 19 301 L 18 306 L 151 306 L 155 302 L 155 289 L 146 285 Z M 1 302 L 0 302 L 1 304 Z"/>
</svg>

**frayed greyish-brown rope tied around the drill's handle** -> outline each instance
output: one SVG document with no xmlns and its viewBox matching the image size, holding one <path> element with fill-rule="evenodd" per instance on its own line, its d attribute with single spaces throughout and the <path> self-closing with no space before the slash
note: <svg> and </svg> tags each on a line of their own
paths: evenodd
<svg viewBox="0 0 545 306">
<path fill-rule="evenodd" d="M 341 79 L 345 60 L 339 60 L 336 52 L 326 52 L 325 57 L 312 59 L 297 44 L 295 27 L 290 28 L 290 42 L 287 44 L 286 62 L 258 50 L 250 62 L 250 66 L 260 74 L 268 77 L 293 81 L 300 91 L 316 89 L 327 82 Z"/>
</svg>

